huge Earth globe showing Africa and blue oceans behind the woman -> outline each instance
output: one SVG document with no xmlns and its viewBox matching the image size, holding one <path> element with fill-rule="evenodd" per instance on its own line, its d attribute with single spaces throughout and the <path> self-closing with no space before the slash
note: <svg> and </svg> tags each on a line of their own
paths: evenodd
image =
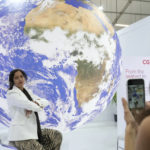
<svg viewBox="0 0 150 150">
<path fill-rule="evenodd" d="M 9 127 L 6 92 L 13 69 L 49 101 L 43 128 L 80 127 L 110 103 L 121 49 L 104 13 L 86 0 L 0 0 L 0 124 Z"/>
</svg>

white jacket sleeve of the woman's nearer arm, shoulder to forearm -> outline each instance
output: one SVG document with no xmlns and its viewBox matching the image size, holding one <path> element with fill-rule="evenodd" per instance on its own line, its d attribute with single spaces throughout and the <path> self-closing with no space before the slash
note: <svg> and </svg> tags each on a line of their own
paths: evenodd
<svg viewBox="0 0 150 150">
<path fill-rule="evenodd" d="M 19 95 L 17 92 L 9 92 L 9 94 L 7 94 L 7 100 L 8 104 L 12 106 L 17 106 L 36 112 L 43 110 L 40 106 L 32 101 L 29 101 L 27 98 L 21 97 L 21 95 Z"/>
</svg>

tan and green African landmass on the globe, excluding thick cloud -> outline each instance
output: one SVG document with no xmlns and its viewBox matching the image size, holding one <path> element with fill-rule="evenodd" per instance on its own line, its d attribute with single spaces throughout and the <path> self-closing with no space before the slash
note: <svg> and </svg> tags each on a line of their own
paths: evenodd
<svg viewBox="0 0 150 150">
<path fill-rule="evenodd" d="M 84 2 L 88 3 L 87 1 Z M 44 31 L 53 31 L 56 27 L 59 27 L 61 30 L 67 31 L 66 36 L 68 38 L 78 32 L 84 32 L 85 43 L 87 43 L 89 47 L 94 44 L 94 49 L 98 52 L 96 57 L 100 59 L 96 64 L 93 60 L 89 60 L 88 57 L 84 57 L 82 46 L 80 48 L 74 47 L 74 49 L 69 52 L 70 57 L 74 57 L 72 60 L 77 64 L 78 74 L 75 78 L 75 88 L 79 106 L 92 100 L 95 94 L 101 92 L 99 85 L 109 79 L 105 68 L 112 59 L 114 59 L 114 57 L 110 58 L 110 54 L 107 53 L 114 54 L 116 51 L 116 46 L 111 47 L 111 51 L 109 52 L 105 51 L 107 46 L 104 45 L 105 43 L 101 43 L 100 40 L 101 36 L 107 31 L 109 31 L 108 41 L 112 38 L 114 35 L 112 25 L 97 7 L 90 3 L 89 5 L 92 8 L 91 10 L 83 7 L 74 7 L 62 0 L 45 7 L 43 7 L 41 3 L 27 14 L 24 27 L 25 33 L 28 34 L 31 39 L 40 40 L 45 43 L 50 43 L 50 39 L 44 36 Z M 36 32 L 36 34 L 33 31 Z M 90 39 L 90 34 L 95 35 L 94 40 Z M 75 42 L 81 45 L 79 41 Z M 114 45 L 114 43 L 112 43 L 112 45 Z M 68 42 L 68 45 L 69 44 Z M 111 42 L 106 44 L 111 44 Z M 41 47 L 41 50 L 42 49 Z M 51 51 L 51 49 L 49 49 L 49 51 Z M 90 53 L 92 53 L 92 51 Z M 110 83 L 111 86 L 109 89 L 113 87 L 114 80 Z"/>
</svg>

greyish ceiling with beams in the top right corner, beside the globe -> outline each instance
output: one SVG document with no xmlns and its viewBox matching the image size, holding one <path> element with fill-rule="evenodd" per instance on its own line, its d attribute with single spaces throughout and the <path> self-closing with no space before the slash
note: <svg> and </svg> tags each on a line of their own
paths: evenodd
<svg viewBox="0 0 150 150">
<path fill-rule="evenodd" d="M 150 16 L 150 0 L 91 0 L 95 5 L 103 6 L 103 11 L 116 30 L 115 24 L 133 24 Z"/>
</svg>

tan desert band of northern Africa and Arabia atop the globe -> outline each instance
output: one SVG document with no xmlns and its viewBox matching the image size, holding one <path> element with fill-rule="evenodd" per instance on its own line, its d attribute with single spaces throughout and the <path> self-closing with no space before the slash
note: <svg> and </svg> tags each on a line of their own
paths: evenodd
<svg viewBox="0 0 150 150">
<path fill-rule="evenodd" d="M 53 29 L 59 26 L 63 30 L 68 30 L 70 34 L 77 31 L 87 31 L 100 35 L 105 31 L 98 19 L 100 16 L 111 33 L 114 33 L 111 24 L 107 21 L 103 13 L 94 5 L 92 6 L 93 13 L 91 13 L 91 10 L 83 7 L 76 8 L 66 4 L 63 0 L 56 1 L 51 7 L 46 7 L 43 10 L 42 8 L 41 4 L 28 13 L 25 19 L 25 30 L 29 28 Z"/>
</svg>

